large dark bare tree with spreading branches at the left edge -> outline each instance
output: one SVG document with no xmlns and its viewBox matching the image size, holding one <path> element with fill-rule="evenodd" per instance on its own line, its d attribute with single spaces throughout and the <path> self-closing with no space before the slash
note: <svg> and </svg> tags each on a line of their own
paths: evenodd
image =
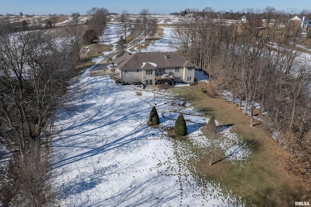
<svg viewBox="0 0 311 207">
<path fill-rule="evenodd" d="M 42 128 L 66 91 L 71 62 L 70 47 L 43 32 L 0 36 L 0 111 L 9 126 L 5 137 L 17 139 L 23 153 Z"/>
</svg>

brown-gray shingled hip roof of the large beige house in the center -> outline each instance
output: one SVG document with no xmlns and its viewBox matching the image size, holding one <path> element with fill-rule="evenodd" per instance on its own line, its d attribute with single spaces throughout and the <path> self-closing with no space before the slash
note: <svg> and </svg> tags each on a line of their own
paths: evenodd
<svg viewBox="0 0 311 207">
<path fill-rule="evenodd" d="M 165 55 L 167 58 L 165 58 Z M 125 69 L 155 69 L 168 67 L 195 67 L 195 64 L 185 60 L 173 52 L 137 52 L 125 53 L 116 59 L 118 68 Z M 144 63 L 149 63 L 145 64 Z M 144 67 L 142 68 L 142 66 Z"/>
</svg>

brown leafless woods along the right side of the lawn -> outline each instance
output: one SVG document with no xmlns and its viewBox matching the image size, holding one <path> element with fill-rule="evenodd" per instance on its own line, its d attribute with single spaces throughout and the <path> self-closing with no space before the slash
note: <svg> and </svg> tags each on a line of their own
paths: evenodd
<svg viewBox="0 0 311 207">
<path fill-rule="evenodd" d="M 207 72 L 210 92 L 231 92 L 240 109 L 245 102 L 251 126 L 259 104 L 263 124 L 292 155 L 286 167 L 310 181 L 311 65 L 309 54 L 299 52 L 306 40 L 301 28 L 271 8 L 231 22 L 212 16 L 203 10 L 185 17 L 175 27 L 176 48 Z"/>
</svg>

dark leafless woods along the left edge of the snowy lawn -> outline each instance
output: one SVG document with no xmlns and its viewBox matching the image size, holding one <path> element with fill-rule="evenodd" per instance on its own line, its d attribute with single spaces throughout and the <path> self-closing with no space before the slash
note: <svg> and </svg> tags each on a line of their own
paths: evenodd
<svg viewBox="0 0 311 207">
<path fill-rule="evenodd" d="M 61 32 L 56 38 L 51 31 L 16 30 L 0 22 L 0 140 L 13 155 L 0 173 L 4 206 L 49 206 L 54 197 L 50 133 L 79 72 L 69 41 L 74 35 Z"/>
</svg>

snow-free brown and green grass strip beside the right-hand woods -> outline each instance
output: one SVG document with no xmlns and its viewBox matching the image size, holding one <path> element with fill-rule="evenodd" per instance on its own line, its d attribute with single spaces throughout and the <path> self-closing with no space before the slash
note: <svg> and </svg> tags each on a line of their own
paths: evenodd
<svg viewBox="0 0 311 207">
<path fill-rule="evenodd" d="M 270 136 L 263 124 L 250 127 L 250 117 L 244 116 L 232 103 L 211 98 L 202 93 L 202 83 L 187 90 L 174 88 L 194 107 L 214 115 L 221 124 L 232 124 L 235 132 L 247 142 L 254 143 L 252 157 L 242 166 L 227 161 L 209 166 L 209 155 L 195 166 L 203 179 L 219 181 L 225 190 L 241 196 L 249 206 L 294 206 L 294 201 L 310 201 L 311 189 L 299 177 L 284 168 L 289 155 Z M 220 157 L 216 157 L 221 159 Z M 309 187 L 309 188 L 308 188 Z"/>
</svg>

